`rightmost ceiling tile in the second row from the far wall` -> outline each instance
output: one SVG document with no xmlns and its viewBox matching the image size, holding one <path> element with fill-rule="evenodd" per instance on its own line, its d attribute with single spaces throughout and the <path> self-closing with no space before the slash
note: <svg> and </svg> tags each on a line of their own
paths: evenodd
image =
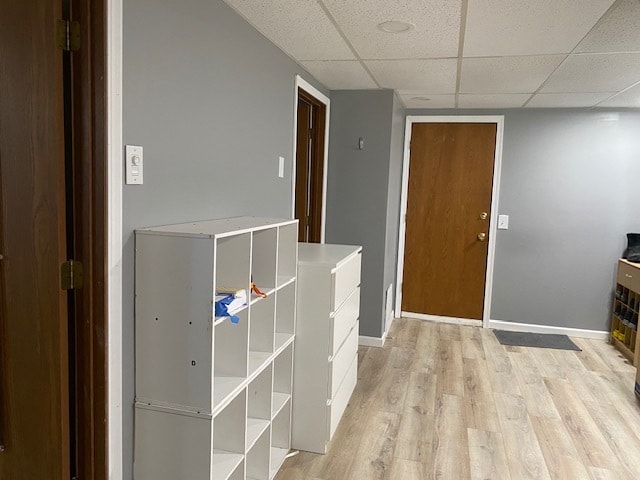
<svg viewBox="0 0 640 480">
<path fill-rule="evenodd" d="M 640 53 L 570 55 L 543 93 L 617 92 L 640 80 Z"/>
</svg>

